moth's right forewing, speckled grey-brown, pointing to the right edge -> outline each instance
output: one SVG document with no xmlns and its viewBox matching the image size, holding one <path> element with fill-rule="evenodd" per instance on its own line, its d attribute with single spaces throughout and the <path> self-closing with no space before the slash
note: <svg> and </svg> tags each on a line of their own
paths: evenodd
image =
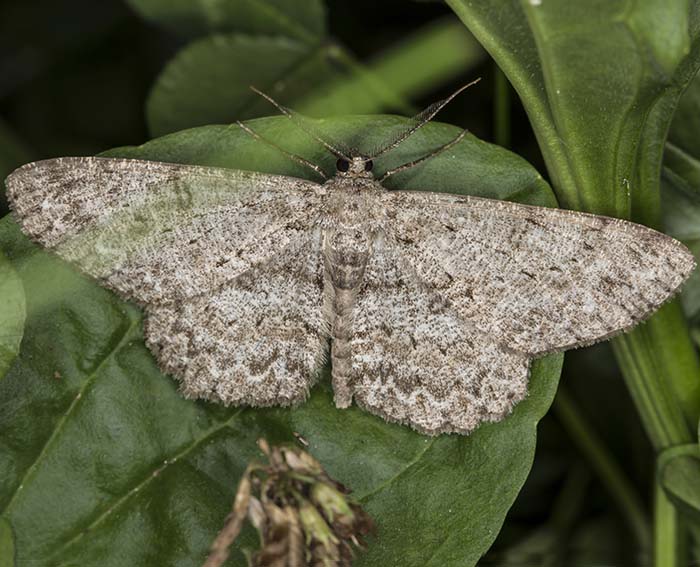
<svg viewBox="0 0 700 567">
<path fill-rule="evenodd" d="M 678 241 L 617 219 L 437 193 L 386 202 L 421 280 L 464 321 L 530 356 L 632 327 L 695 267 Z"/>
</svg>

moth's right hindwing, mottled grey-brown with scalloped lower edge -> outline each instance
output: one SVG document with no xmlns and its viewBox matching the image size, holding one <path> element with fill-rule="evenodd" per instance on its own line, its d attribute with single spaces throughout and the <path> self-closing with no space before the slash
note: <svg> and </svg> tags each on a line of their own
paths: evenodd
<svg viewBox="0 0 700 567">
<path fill-rule="evenodd" d="M 497 421 L 527 391 L 529 359 L 465 324 L 380 240 L 353 316 L 358 404 L 428 434 Z"/>
</svg>

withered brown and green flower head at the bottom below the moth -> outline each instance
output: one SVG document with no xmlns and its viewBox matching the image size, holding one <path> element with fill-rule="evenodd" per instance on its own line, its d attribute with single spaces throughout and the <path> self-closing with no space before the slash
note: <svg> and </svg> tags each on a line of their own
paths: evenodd
<svg viewBox="0 0 700 567">
<path fill-rule="evenodd" d="M 363 548 L 373 529 L 372 519 L 309 453 L 270 447 L 264 439 L 258 445 L 268 464 L 246 469 L 204 567 L 226 561 L 246 517 L 260 533 L 251 567 L 349 566 L 353 547 Z"/>
</svg>

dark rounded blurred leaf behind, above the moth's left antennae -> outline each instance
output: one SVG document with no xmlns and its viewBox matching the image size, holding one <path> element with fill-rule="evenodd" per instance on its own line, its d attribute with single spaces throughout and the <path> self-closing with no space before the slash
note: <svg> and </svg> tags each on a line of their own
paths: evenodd
<svg viewBox="0 0 700 567">
<path fill-rule="evenodd" d="M 231 123 L 268 114 L 255 86 L 283 100 L 319 77 L 333 77 L 337 50 L 283 37 L 214 35 L 190 43 L 156 79 L 146 103 L 151 133 Z M 340 66 L 340 65 L 339 65 Z"/>
</svg>

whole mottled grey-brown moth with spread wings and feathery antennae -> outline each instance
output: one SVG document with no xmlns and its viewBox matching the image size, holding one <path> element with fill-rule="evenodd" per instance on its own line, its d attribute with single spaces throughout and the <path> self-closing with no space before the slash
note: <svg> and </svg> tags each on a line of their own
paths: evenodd
<svg viewBox="0 0 700 567">
<path fill-rule="evenodd" d="M 188 398 L 301 403 L 330 343 L 337 407 L 355 400 L 425 434 L 468 433 L 526 396 L 533 358 L 631 328 L 695 262 L 623 220 L 386 189 L 388 176 L 459 143 L 466 132 L 373 174 L 460 91 L 369 155 L 266 97 L 337 158 L 326 178 L 285 152 L 320 183 L 58 158 L 12 173 L 8 196 L 32 239 L 142 306 L 147 344 Z"/>
</svg>

